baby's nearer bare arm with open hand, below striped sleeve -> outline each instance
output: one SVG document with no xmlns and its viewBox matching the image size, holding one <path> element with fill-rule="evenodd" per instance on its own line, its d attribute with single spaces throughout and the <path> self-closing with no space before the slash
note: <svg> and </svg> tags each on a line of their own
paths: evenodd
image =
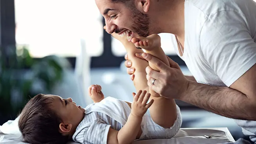
<svg viewBox="0 0 256 144">
<path fill-rule="evenodd" d="M 141 121 L 143 115 L 153 104 L 151 100 L 148 104 L 150 94 L 146 94 L 146 90 L 139 92 L 133 97 L 132 112 L 130 113 L 126 124 L 121 130 L 117 131 L 112 128 L 108 131 L 108 144 L 131 144 L 133 140 L 138 139 L 141 135 Z M 139 133 L 139 135 L 138 135 Z"/>
</svg>

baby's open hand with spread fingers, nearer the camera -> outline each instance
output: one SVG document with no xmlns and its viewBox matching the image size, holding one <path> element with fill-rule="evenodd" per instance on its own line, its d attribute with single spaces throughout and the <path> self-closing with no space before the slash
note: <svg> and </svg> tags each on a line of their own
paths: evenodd
<svg viewBox="0 0 256 144">
<path fill-rule="evenodd" d="M 145 96 L 146 95 L 146 96 Z M 151 101 L 147 104 L 150 93 L 147 93 L 146 90 L 142 92 L 142 90 L 139 90 L 137 94 L 133 93 L 133 102 L 132 102 L 132 114 L 137 117 L 143 117 L 143 115 L 147 112 L 148 108 L 153 104 L 154 100 L 151 99 Z"/>
</svg>

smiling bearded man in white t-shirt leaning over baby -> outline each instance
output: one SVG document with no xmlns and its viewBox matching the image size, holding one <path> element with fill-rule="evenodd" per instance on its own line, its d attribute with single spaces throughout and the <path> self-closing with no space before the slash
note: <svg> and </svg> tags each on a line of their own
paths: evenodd
<svg viewBox="0 0 256 144">
<path fill-rule="evenodd" d="M 173 34 L 174 48 L 193 77 L 150 54 L 149 86 L 230 117 L 256 142 L 256 3 L 253 0 L 95 0 L 108 33 L 133 37 Z M 130 65 L 128 65 L 130 63 Z M 132 62 L 126 61 L 131 67 Z M 133 70 L 134 68 L 129 69 Z M 133 74 L 129 72 L 129 74 Z M 132 75 L 132 79 L 133 79 Z"/>
</svg>

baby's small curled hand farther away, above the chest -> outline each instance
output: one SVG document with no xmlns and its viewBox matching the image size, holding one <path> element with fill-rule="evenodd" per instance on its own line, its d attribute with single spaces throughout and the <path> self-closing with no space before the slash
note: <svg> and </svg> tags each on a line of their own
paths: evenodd
<svg viewBox="0 0 256 144">
<path fill-rule="evenodd" d="M 104 95 L 101 92 L 101 86 L 100 85 L 91 85 L 88 88 L 89 95 L 94 103 L 98 103 L 101 100 L 104 99 Z"/>
</svg>

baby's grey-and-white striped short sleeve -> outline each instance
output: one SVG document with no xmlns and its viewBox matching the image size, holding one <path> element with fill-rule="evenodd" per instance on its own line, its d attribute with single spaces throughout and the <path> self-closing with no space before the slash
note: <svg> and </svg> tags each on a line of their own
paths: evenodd
<svg viewBox="0 0 256 144">
<path fill-rule="evenodd" d="M 81 130 L 76 140 L 81 144 L 106 144 L 110 125 L 97 119 L 92 124 Z"/>
</svg>

